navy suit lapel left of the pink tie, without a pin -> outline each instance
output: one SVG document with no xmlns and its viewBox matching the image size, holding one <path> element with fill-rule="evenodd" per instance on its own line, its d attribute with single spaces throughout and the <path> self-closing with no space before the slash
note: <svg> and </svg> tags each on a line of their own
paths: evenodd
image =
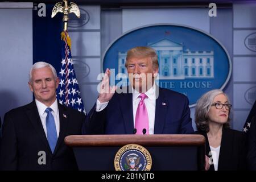
<svg viewBox="0 0 256 182">
<path fill-rule="evenodd" d="M 125 93 L 119 97 L 126 134 L 133 134 L 133 94 Z"/>
</svg>

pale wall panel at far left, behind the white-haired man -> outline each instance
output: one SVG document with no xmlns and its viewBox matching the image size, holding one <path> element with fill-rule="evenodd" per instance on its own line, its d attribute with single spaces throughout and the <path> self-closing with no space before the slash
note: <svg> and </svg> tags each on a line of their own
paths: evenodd
<svg viewBox="0 0 256 182">
<path fill-rule="evenodd" d="M 12 7 L 12 8 L 1 8 Z M 17 7 L 17 8 L 15 8 Z M 32 101 L 32 3 L 0 3 L 0 116 Z"/>
</svg>

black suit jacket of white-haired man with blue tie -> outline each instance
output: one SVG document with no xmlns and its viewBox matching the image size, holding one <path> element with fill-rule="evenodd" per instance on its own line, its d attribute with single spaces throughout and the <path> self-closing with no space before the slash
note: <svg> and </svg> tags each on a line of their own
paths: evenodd
<svg viewBox="0 0 256 182">
<path fill-rule="evenodd" d="M 81 134 L 85 116 L 66 106 L 59 106 L 60 133 L 51 152 L 46 134 L 40 121 L 35 101 L 5 114 L 1 151 L 1 170 L 77 170 L 72 148 L 67 147 L 64 138 Z M 46 164 L 39 165 L 39 151 L 46 152 Z M 40 160 L 40 159 L 39 159 Z"/>
</svg>

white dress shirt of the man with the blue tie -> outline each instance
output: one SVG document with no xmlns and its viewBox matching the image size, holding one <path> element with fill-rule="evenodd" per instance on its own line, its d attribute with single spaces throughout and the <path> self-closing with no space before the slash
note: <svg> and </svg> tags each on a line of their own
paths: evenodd
<svg viewBox="0 0 256 182">
<path fill-rule="evenodd" d="M 40 116 L 40 119 L 41 119 L 41 122 L 43 125 L 44 133 L 46 133 L 46 138 L 47 138 L 47 129 L 46 129 L 46 117 L 47 117 L 46 108 L 47 108 L 47 106 L 38 100 L 35 100 L 35 102 L 36 102 L 36 107 L 38 107 L 38 113 L 39 113 L 39 116 Z M 53 104 L 49 107 L 51 107 L 51 109 L 52 109 L 51 113 L 54 117 L 56 131 L 57 131 L 57 137 L 59 138 L 60 116 L 59 116 L 59 108 L 58 108 L 57 100 L 55 100 L 53 102 Z"/>
</svg>

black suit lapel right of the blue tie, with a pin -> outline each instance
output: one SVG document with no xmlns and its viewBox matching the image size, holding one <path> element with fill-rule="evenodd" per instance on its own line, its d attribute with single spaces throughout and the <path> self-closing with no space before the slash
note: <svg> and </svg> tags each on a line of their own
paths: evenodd
<svg viewBox="0 0 256 182">
<path fill-rule="evenodd" d="M 59 133 L 59 137 L 58 137 L 57 144 L 53 154 L 57 152 L 61 144 L 64 142 L 65 133 L 67 131 L 67 126 L 68 126 L 68 119 L 69 119 L 67 109 L 65 109 L 65 107 L 63 107 L 59 103 L 58 103 L 58 107 L 59 107 L 59 117 L 60 117 L 60 133 Z"/>
</svg>

